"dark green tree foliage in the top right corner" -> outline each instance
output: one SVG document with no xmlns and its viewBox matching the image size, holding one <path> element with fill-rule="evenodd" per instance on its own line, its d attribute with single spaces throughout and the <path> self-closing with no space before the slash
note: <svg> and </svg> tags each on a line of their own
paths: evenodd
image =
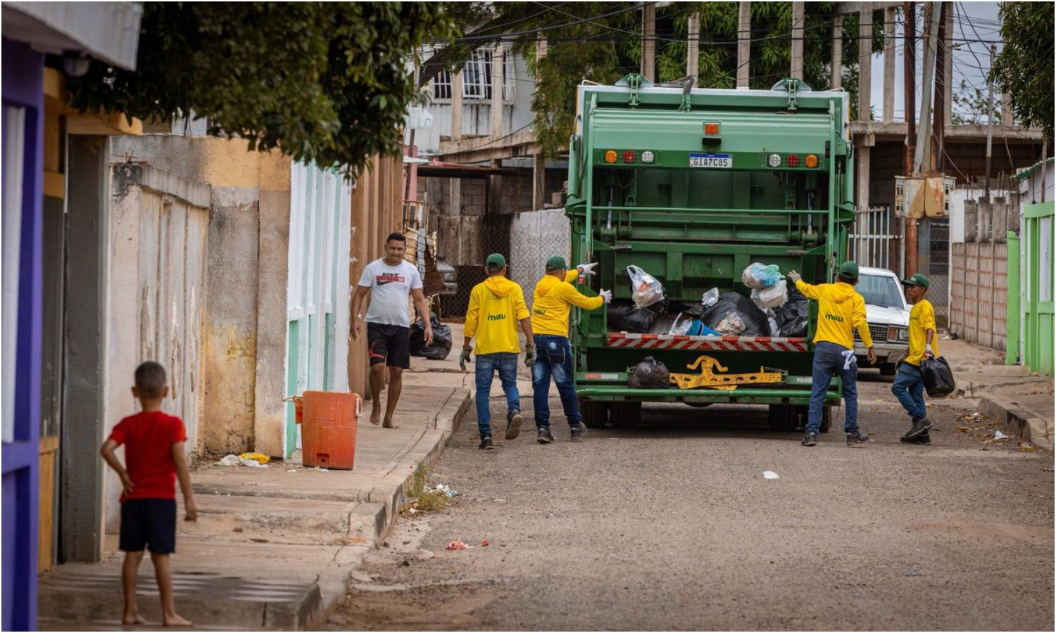
<svg viewBox="0 0 1056 633">
<path fill-rule="evenodd" d="M 1012 100 L 1023 126 L 1053 140 L 1053 3 L 1004 2 L 998 13 L 1004 47 L 989 79 Z"/>
</svg>

